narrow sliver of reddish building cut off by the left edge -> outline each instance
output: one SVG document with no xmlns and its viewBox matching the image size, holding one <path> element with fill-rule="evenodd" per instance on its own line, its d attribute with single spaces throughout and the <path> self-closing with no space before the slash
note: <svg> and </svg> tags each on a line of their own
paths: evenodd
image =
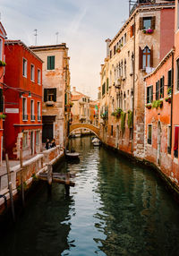
<svg viewBox="0 0 179 256">
<path fill-rule="evenodd" d="M 3 96 L 3 82 L 5 72 L 5 57 L 4 57 L 4 39 L 6 32 L 2 23 L 0 22 L 0 163 L 3 158 L 3 117 L 4 117 L 4 96 Z"/>
</svg>

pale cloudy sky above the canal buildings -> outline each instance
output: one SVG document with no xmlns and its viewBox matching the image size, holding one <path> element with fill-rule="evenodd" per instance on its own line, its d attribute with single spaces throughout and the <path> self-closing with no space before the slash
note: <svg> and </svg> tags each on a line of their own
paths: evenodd
<svg viewBox="0 0 179 256">
<path fill-rule="evenodd" d="M 71 87 L 98 98 L 100 64 L 107 38 L 114 38 L 128 18 L 128 0 L 0 0 L 1 22 L 8 39 L 27 46 L 66 43 Z"/>
</svg>

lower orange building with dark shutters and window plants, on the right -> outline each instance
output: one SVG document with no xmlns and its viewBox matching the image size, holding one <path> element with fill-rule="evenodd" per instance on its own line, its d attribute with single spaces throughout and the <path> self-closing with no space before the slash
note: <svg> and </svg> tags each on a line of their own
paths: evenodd
<svg viewBox="0 0 179 256">
<path fill-rule="evenodd" d="M 174 49 L 145 77 L 145 159 L 166 175 L 172 170 L 172 84 Z"/>
</svg>

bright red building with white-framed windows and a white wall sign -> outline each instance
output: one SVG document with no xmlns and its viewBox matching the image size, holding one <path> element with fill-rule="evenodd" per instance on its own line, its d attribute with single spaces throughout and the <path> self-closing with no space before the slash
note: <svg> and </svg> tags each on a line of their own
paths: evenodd
<svg viewBox="0 0 179 256">
<path fill-rule="evenodd" d="M 41 150 L 42 60 L 21 40 L 5 41 L 4 152 L 9 158 Z"/>
</svg>

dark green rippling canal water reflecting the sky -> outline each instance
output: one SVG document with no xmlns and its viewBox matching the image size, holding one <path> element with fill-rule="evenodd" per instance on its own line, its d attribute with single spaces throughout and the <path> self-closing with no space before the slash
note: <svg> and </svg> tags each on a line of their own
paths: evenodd
<svg viewBox="0 0 179 256">
<path fill-rule="evenodd" d="M 70 197 L 60 184 L 49 195 L 45 184 L 1 238 L 0 255 L 179 255 L 179 205 L 158 175 L 90 137 L 72 147 L 80 163 L 58 166 L 76 172 Z"/>
</svg>

